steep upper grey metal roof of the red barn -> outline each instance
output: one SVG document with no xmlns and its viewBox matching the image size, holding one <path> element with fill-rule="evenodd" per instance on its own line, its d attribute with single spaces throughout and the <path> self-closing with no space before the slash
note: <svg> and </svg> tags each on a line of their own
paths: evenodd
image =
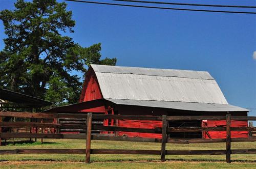
<svg viewBox="0 0 256 169">
<path fill-rule="evenodd" d="M 228 104 L 208 72 L 91 66 L 104 99 Z"/>
</svg>

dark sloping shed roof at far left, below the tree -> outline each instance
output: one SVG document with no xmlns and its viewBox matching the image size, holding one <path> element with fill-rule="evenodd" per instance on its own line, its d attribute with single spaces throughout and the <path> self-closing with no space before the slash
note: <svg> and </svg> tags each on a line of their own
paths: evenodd
<svg viewBox="0 0 256 169">
<path fill-rule="evenodd" d="M 24 104 L 32 107 L 42 107 L 42 106 L 48 106 L 53 104 L 52 102 L 49 102 L 43 99 L 13 92 L 6 89 L 0 89 L 0 99 L 8 100 L 17 104 Z"/>
</svg>

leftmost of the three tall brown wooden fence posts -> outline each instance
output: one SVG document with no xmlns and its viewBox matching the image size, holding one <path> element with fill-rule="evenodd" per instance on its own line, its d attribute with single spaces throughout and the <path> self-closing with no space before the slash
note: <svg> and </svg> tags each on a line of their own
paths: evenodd
<svg viewBox="0 0 256 169">
<path fill-rule="evenodd" d="M 92 133 L 92 113 L 87 114 L 87 130 L 86 130 L 86 163 L 90 163 L 91 156 L 91 133 Z"/>
</svg>

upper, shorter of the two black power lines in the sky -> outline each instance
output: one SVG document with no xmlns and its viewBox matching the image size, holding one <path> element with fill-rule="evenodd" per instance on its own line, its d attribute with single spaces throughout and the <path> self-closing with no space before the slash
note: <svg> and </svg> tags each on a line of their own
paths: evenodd
<svg viewBox="0 0 256 169">
<path fill-rule="evenodd" d="M 164 4 L 164 5 L 184 5 L 184 6 L 200 6 L 200 7 L 225 7 L 225 8 L 256 8 L 256 6 L 236 6 L 236 5 L 207 5 L 207 4 L 186 4 L 186 3 L 166 3 L 154 1 L 136 1 L 136 0 L 113 0 L 131 3 L 148 3 L 148 4 Z"/>
</svg>

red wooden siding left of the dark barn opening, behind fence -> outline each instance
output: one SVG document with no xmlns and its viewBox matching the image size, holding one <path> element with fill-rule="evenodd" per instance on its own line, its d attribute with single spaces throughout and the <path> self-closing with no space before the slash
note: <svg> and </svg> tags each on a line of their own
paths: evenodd
<svg viewBox="0 0 256 169">
<path fill-rule="evenodd" d="M 156 127 L 162 127 L 161 121 L 152 120 L 119 120 L 119 127 L 130 127 L 130 128 L 147 128 L 154 129 Z M 137 132 L 122 132 L 119 131 L 118 135 L 126 135 L 129 137 L 149 137 L 149 138 L 162 138 L 162 134 L 155 133 L 137 133 Z"/>
</svg>

